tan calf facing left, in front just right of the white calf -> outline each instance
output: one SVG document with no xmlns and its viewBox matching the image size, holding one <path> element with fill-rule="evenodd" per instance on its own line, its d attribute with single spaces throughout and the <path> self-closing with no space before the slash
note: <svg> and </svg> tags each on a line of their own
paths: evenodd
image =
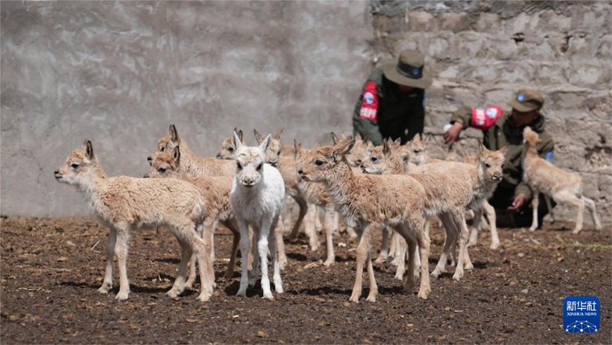
<svg viewBox="0 0 612 345">
<path fill-rule="evenodd" d="M 322 182 L 329 190 L 336 210 L 345 222 L 362 230 L 357 246 L 357 272 L 350 301 L 357 303 L 362 294 L 362 275 L 367 266 L 370 292 L 367 301 L 376 301 L 378 287 L 372 268 L 370 242 L 373 232 L 387 225 L 406 239 L 412 255 L 408 259 L 406 291 L 414 287 L 414 252 L 419 245 L 421 253 L 421 287 L 418 296 L 427 299 L 429 285 L 428 257 L 429 237 L 423 232 L 424 200 L 427 198 L 423 186 L 412 177 L 403 175 L 362 175 L 354 173 L 345 156 L 350 152 L 355 139 L 348 137 L 335 146 L 321 146 L 310 152 L 298 153 L 296 168 L 303 180 Z"/>
</svg>

